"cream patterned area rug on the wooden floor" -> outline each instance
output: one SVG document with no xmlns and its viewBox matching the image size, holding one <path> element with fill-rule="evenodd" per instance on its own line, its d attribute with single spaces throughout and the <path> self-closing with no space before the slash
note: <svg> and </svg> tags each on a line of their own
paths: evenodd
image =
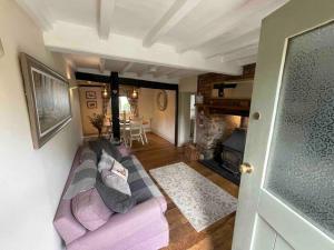
<svg viewBox="0 0 334 250">
<path fill-rule="evenodd" d="M 197 232 L 236 210 L 236 198 L 184 162 L 149 172 Z"/>
</svg>

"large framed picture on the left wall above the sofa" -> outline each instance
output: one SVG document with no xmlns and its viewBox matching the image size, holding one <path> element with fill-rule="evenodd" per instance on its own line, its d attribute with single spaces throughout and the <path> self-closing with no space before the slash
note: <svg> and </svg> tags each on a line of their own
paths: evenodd
<svg viewBox="0 0 334 250">
<path fill-rule="evenodd" d="M 39 149 L 71 120 L 69 83 L 26 53 L 20 61 L 33 148 Z"/>
</svg>

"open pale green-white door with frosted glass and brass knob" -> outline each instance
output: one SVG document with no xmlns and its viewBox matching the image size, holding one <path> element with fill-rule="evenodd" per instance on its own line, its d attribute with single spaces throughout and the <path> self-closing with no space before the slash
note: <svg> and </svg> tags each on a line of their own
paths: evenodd
<svg viewBox="0 0 334 250">
<path fill-rule="evenodd" d="M 334 250 L 333 20 L 291 0 L 263 21 L 233 250 Z"/>
</svg>

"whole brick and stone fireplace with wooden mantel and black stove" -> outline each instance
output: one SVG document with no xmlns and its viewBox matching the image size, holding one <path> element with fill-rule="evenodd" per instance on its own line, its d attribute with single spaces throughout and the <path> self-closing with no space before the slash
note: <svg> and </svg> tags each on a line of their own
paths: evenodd
<svg viewBox="0 0 334 250">
<path fill-rule="evenodd" d="M 244 66 L 238 77 L 198 76 L 196 103 L 196 149 L 200 162 L 239 184 L 255 64 Z M 224 91 L 223 97 L 217 96 Z"/>
</svg>

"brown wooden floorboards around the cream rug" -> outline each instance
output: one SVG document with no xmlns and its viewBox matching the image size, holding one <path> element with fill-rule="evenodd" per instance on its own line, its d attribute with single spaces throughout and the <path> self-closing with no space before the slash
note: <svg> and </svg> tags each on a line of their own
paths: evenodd
<svg viewBox="0 0 334 250">
<path fill-rule="evenodd" d="M 135 142 L 131 150 L 147 171 L 157 167 L 185 161 L 181 148 L 175 148 L 174 144 L 153 133 L 148 133 L 148 140 L 149 143 L 146 146 Z M 186 163 L 232 196 L 237 197 L 238 187 L 234 183 L 197 161 Z M 168 202 L 166 217 L 170 230 L 170 243 L 166 250 L 230 250 L 235 213 L 220 219 L 202 232 L 196 232 L 174 202 L 165 192 L 164 194 Z"/>
</svg>

